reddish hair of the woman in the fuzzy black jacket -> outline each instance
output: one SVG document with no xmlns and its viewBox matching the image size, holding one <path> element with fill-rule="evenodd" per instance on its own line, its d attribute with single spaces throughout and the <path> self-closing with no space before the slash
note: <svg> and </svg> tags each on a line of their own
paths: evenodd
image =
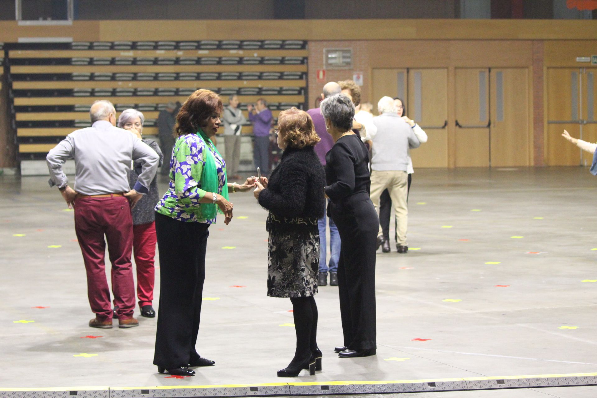
<svg viewBox="0 0 597 398">
<path fill-rule="evenodd" d="M 321 139 L 315 132 L 315 125 L 309 113 L 291 107 L 278 116 L 278 131 L 284 134 L 282 139 L 288 147 L 303 149 L 315 146 Z"/>
</svg>

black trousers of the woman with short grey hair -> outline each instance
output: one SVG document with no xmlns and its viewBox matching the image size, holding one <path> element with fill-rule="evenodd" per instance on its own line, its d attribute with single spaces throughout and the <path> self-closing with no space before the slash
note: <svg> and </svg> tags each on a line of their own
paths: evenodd
<svg viewBox="0 0 597 398">
<path fill-rule="evenodd" d="M 379 231 L 377 212 L 367 193 L 331 206 L 338 227 L 338 295 L 344 346 L 350 350 L 377 348 L 375 262 Z"/>
</svg>

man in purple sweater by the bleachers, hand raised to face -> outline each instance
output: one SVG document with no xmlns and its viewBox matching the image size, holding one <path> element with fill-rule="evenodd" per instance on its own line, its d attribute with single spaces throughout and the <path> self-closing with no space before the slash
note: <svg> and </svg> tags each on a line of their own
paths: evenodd
<svg viewBox="0 0 597 398">
<path fill-rule="evenodd" d="M 272 128 L 272 111 L 267 109 L 267 101 L 259 98 L 255 107 L 249 104 L 249 120 L 253 123 L 253 161 L 261 169 L 261 175 L 269 175 L 269 129 Z"/>
</svg>

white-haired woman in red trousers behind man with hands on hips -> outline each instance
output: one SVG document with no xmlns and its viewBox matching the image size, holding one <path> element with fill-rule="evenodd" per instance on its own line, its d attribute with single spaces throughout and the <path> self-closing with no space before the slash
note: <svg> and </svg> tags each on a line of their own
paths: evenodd
<svg viewBox="0 0 597 398">
<path fill-rule="evenodd" d="M 120 128 L 130 131 L 141 141 L 155 150 L 159 156 L 159 165 L 164 161 L 164 155 L 159 149 L 158 144 L 147 138 L 143 138 L 143 123 L 145 117 L 143 113 L 136 109 L 126 109 L 122 111 L 116 125 Z M 134 186 L 141 172 L 141 163 L 135 162 L 131 166 L 131 175 L 129 183 Z M 137 298 L 139 298 L 139 308 L 141 316 L 147 318 L 155 317 L 155 310 L 152 306 L 153 284 L 155 282 L 155 211 L 153 208 L 158 203 L 158 183 L 153 178 L 149 186 L 149 193 L 143 195 L 143 198 L 137 202 L 137 205 L 131 209 L 133 215 L 133 255 L 137 267 Z"/>
</svg>

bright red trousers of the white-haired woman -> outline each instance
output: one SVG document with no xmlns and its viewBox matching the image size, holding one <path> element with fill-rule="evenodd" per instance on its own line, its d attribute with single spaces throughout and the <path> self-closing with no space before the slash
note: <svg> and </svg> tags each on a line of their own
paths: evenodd
<svg viewBox="0 0 597 398">
<path fill-rule="evenodd" d="M 155 221 L 133 226 L 133 253 L 137 266 L 137 298 L 139 308 L 150 306 L 155 282 Z"/>
</svg>

